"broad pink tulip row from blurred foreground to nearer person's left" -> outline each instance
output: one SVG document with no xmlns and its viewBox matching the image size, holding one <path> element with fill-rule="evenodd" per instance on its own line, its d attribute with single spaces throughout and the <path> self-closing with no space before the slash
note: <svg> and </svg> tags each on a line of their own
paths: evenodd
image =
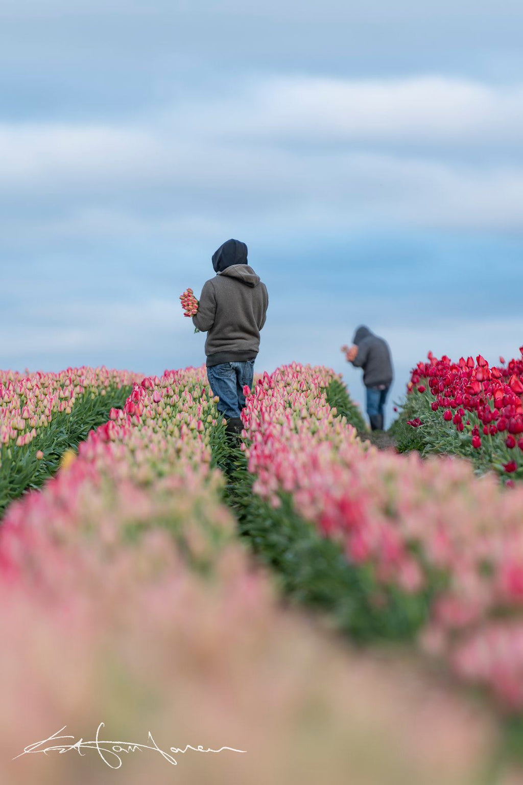
<svg viewBox="0 0 523 785">
<path fill-rule="evenodd" d="M 222 439 L 203 370 L 146 378 L 9 507 L 2 782 L 98 785 L 111 766 L 162 785 L 175 763 L 185 783 L 477 782 L 496 742 L 485 713 L 279 606 L 220 504 Z M 13 760 L 53 733 L 71 737 Z"/>
</svg>

